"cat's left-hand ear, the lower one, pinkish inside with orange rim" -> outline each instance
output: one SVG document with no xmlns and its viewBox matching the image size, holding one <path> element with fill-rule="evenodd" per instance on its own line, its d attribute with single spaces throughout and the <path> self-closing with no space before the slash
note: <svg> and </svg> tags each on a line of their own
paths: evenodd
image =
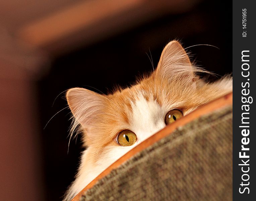
<svg viewBox="0 0 256 201">
<path fill-rule="evenodd" d="M 66 94 L 68 106 L 76 121 L 89 126 L 107 101 L 103 95 L 84 88 L 71 88 Z"/>
</svg>

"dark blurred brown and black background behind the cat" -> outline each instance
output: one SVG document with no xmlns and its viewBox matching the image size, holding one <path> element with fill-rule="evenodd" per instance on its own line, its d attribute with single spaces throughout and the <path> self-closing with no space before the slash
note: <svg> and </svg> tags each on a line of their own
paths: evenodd
<svg viewBox="0 0 256 201">
<path fill-rule="evenodd" d="M 69 144 L 65 90 L 127 86 L 174 39 L 218 47 L 187 51 L 218 77 L 232 72 L 231 1 L 11 0 L 0 10 L 0 200 L 61 200 L 73 181 L 82 144 Z"/>
</svg>

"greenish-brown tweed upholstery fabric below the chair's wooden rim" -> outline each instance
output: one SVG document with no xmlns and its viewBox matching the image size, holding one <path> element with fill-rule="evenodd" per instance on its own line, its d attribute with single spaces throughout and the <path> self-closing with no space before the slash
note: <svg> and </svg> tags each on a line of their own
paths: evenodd
<svg viewBox="0 0 256 201">
<path fill-rule="evenodd" d="M 232 107 L 137 153 L 87 190 L 91 200 L 232 200 Z"/>
</svg>

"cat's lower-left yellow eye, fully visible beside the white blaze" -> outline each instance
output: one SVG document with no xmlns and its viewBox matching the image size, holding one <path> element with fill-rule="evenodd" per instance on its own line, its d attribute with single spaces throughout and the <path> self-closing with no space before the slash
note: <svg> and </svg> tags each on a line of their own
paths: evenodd
<svg viewBox="0 0 256 201">
<path fill-rule="evenodd" d="M 137 136 L 130 130 L 123 130 L 117 136 L 117 143 L 121 146 L 131 146 L 137 141 Z"/>
</svg>

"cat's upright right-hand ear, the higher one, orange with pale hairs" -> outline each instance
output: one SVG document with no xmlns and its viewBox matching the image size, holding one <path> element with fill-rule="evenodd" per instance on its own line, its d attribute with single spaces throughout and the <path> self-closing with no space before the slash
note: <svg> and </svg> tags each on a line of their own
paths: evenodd
<svg viewBox="0 0 256 201">
<path fill-rule="evenodd" d="M 167 79 L 174 77 L 193 79 L 193 71 L 189 57 L 181 44 L 178 41 L 168 43 L 162 52 L 156 74 Z"/>
</svg>

